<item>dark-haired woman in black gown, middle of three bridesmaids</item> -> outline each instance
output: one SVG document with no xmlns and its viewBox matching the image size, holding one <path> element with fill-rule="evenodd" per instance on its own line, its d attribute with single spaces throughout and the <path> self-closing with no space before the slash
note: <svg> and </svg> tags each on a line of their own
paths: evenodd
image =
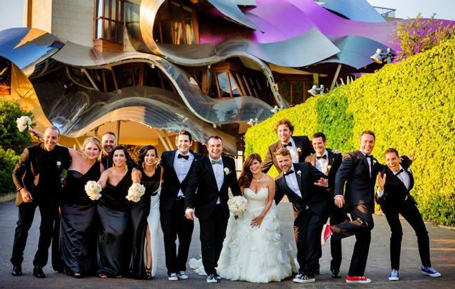
<svg viewBox="0 0 455 289">
<path fill-rule="evenodd" d="M 121 278 L 128 270 L 131 255 L 130 238 L 126 234 L 130 222 L 131 202 L 126 199 L 132 185 L 131 170 L 127 160 L 130 155 L 123 146 L 116 146 L 110 153 L 112 168 L 101 174 L 98 183 L 103 188 L 98 203 L 99 277 Z"/>
</svg>

